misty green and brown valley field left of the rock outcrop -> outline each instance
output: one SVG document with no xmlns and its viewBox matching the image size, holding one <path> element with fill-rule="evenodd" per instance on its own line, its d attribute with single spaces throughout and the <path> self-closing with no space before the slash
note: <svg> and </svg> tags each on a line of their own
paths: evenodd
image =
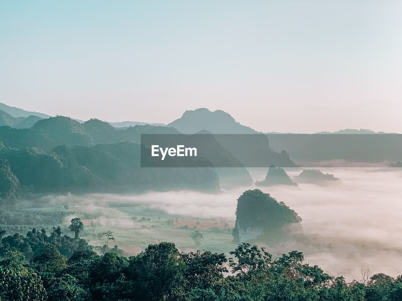
<svg viewBox="0 0 402 301">
<path fill-rule="evenodd" d="M 64 234 L 73 236 L 68 226 L 70 220 L 75 217 L 84 223 L 81 238 L 85 238 L 92 246 L 103 246 L 106 244 L 106 238 L 102 233 L 110 230 L 115 241 L 109 241 L 109 247 L 117 245 L 124 250 L 126 256 L 136 255 L 145 250 L 149 244 L 162 241 L 174 242 L 179 251 L 185 252 L 206 249 L 228 253 L 236 248 L 232 242 L 234 225 L 222 220 L 175 216 L 159 209 L 127 203 L 114 203 L 113 207 L 53 205 L 12 212 L 1 210 L 0 227 L 7 230 L 7 235 L 15 232 L 25 235 L 34 227 L 44 228 L 49 233 L 53 226 L 60 226 Z M 195 230 L 199 230 L 204 238 L 198 245 L 190 238 Z"/>
</svg>

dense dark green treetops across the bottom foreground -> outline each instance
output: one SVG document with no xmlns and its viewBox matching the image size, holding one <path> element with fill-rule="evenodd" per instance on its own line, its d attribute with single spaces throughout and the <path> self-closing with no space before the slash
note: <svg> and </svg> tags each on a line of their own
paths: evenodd
<svg viewBox="0 0 402 301">
<path fill-rule="evenodd" d="M 0 261 L 0 300 L 401 300 L 402 278 L 376 274 L 346 283 L 301 252 L 273 256 L 240 244 L 233 258 L 179 252 L 170 242 L 129 258 L 78 250 L 67 260 L 54 246 L 28 264 L 21 252 Z M 228 270 L 230 269 L 230 271 Z M 230 273 L 229 273 L 230 272 Z"/>
</svg>

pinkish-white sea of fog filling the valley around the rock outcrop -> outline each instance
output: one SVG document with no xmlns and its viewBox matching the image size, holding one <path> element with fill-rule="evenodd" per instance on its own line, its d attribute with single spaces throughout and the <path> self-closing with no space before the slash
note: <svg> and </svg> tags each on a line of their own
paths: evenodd
<svg viewBox="0 0 402 301">
<path fill-rule="evenodd" d="M 297 245 L 305 259 L 327 273 L 360 279 L 359 270 L 402 274 L 402 172 L 369 172 L 368 168 L 321 168 L 341 179 L 326 185 L 258 187 L 283 201 L 303 219 L 304 233 L 320 247 Z M 252 169 L 262 180 L 267 169 Z M 300 171 L 288 171 L 289 176 Z M 225 220 L 234 226 L 241 187 L 207 194 L 193 191 L 152 192 L 143 195 L 57 196 L 55 203 L 102 206 L 111 202 L 140 204 L 168 214 Z M 51 196 L 48 196 L 51 197 Z M 331 247 L 327 245 L 331 244 Z M 228 250 L 229 251 L 229 250 Z"/>
</svg>

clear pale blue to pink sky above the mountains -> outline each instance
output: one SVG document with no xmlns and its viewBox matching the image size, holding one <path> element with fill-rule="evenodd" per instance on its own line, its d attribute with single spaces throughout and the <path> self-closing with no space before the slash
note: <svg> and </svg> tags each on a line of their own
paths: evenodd
<svg viewBox="0 0 402 301">
<path fill-rule="evenodd" d="M 402 132 L 402 1 L 2 1 L 0 102 L 263 132 Z"/>
</svg>

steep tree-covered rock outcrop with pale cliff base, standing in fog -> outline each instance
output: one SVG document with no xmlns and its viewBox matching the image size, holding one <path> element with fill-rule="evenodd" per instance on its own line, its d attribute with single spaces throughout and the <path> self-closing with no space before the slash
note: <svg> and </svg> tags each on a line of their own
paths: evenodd
<svg viewBox="0 0 402 301">
<path fill-rule="evenodd" d="M 246 190 L 237 200 L 236 243 L 263 239 L 266 242 L 286 241 L 284 226 L 301 222 L 297 213 L 285 203 L 278 203 L 269 193 L 259 189 Z"/>
</svg>

